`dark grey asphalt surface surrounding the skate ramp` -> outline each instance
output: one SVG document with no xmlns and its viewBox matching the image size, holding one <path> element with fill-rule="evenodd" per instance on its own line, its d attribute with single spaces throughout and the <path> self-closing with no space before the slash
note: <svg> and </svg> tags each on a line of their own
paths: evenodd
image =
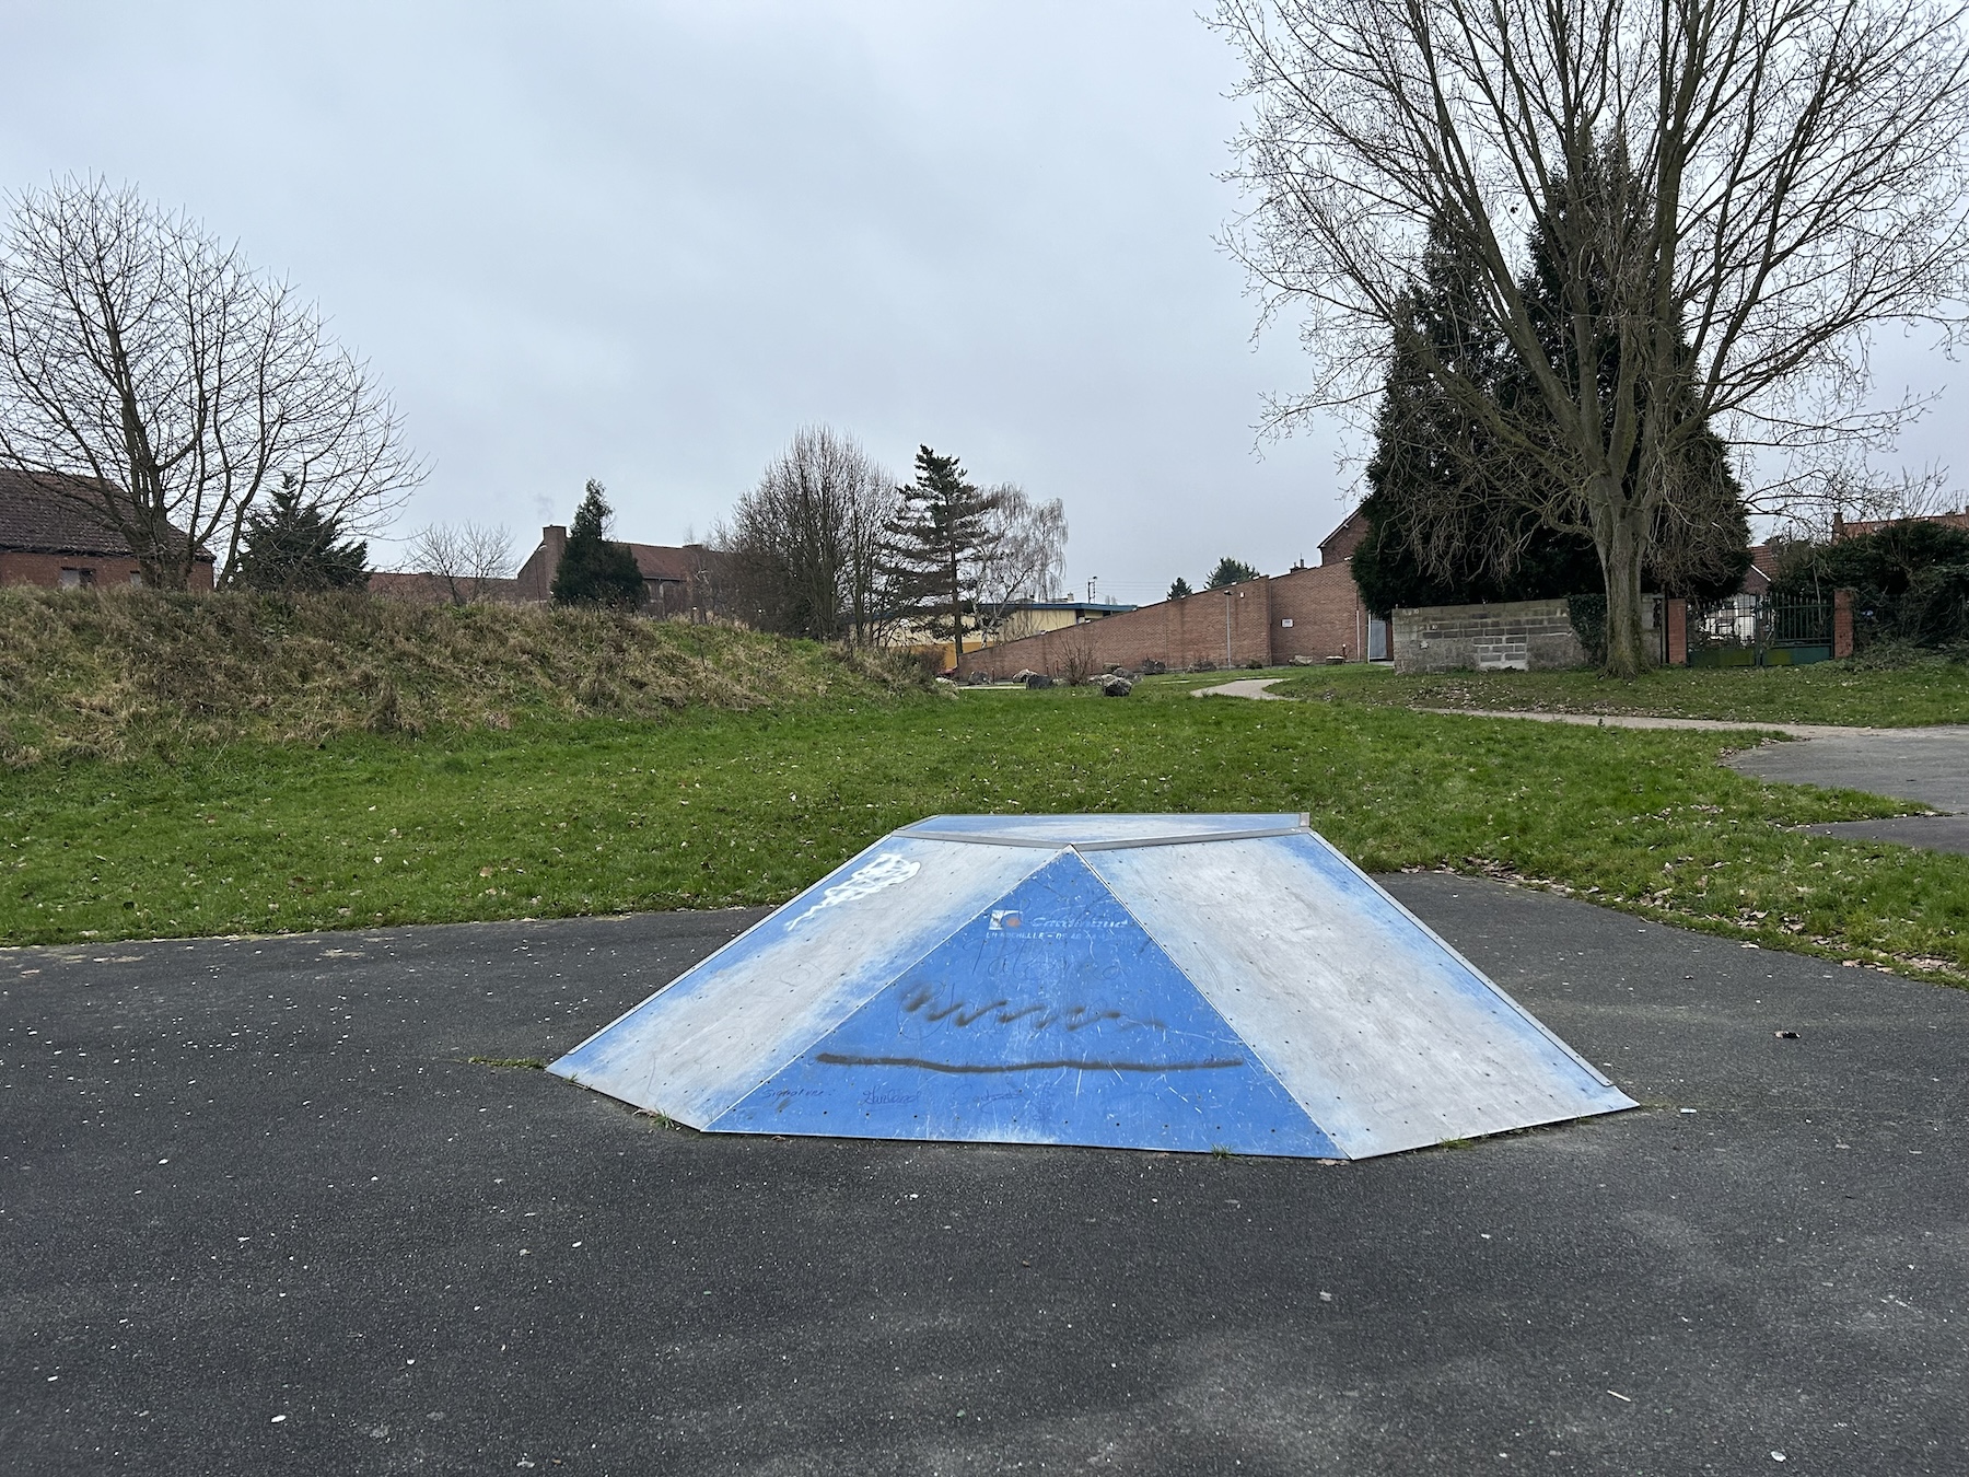
<svg viewBox="0 0 1969 1477">
<path fill-rule="evenodd" d="M 0 1473 L 1969 1467 L 1969 995 L 1388 884 L 1644 1107 L 713 1136 L 469 1058 L 756 914 L 0 951 Z"/>
</svg>

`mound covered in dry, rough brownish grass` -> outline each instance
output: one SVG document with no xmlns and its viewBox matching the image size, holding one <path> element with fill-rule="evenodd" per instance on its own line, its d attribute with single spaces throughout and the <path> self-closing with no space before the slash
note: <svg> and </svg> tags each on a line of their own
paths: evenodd
<svg viewBox="0 0 1969 1477">
<path fill-rule="evenodd" d="M 368 595 L 0 591 L 0 762 L 876 697 L 916 670 L 727 626 Z"/>
</svg>

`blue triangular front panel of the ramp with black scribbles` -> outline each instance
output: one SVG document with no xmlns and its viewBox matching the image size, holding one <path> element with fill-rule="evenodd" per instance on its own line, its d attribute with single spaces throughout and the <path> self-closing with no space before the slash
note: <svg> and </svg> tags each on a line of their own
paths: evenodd
<svg viewBox="0 0 1969 1477">
<path fill-rule="evenodd" d="M 1339 1156 L 1073 853 L 709 1126 Z"/>
</svg>

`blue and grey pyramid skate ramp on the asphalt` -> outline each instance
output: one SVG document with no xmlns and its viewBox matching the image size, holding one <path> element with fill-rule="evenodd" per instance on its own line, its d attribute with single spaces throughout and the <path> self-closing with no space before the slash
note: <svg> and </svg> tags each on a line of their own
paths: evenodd
<svg viewBox="0 0 1969 1477">
<path fill-rule="evenodd" d="M 1303 815 L 937 815 L 551 1071 L 711 1132 L 1365 1158 L 1634 1107 Z"/>
</svg>

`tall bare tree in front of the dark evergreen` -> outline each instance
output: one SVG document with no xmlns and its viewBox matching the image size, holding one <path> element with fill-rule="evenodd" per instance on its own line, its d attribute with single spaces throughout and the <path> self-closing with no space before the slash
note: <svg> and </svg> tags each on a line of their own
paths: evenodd
<svg viewBox="0 0 1969 1477">
<path fill-rule="evenodd" d="M 1274 427 L 1372 394 L 1437 225 L 1552 429 L 1429 374 L 1538 467 L 1528 506 L 1591 534 L 1607 666 L 1636 672 L 1682 447 L 1711 423 L 1880 441 L 1910 406 L 1865 408 L 1869 329 L 1961 323 L 1959 22 L 1920 0 L 1221 0 L 1256 104 L 1233 248 L 1317 362 Z M 1520 286 L 1534 242 L 1557 323 Z"/>
</svg>

